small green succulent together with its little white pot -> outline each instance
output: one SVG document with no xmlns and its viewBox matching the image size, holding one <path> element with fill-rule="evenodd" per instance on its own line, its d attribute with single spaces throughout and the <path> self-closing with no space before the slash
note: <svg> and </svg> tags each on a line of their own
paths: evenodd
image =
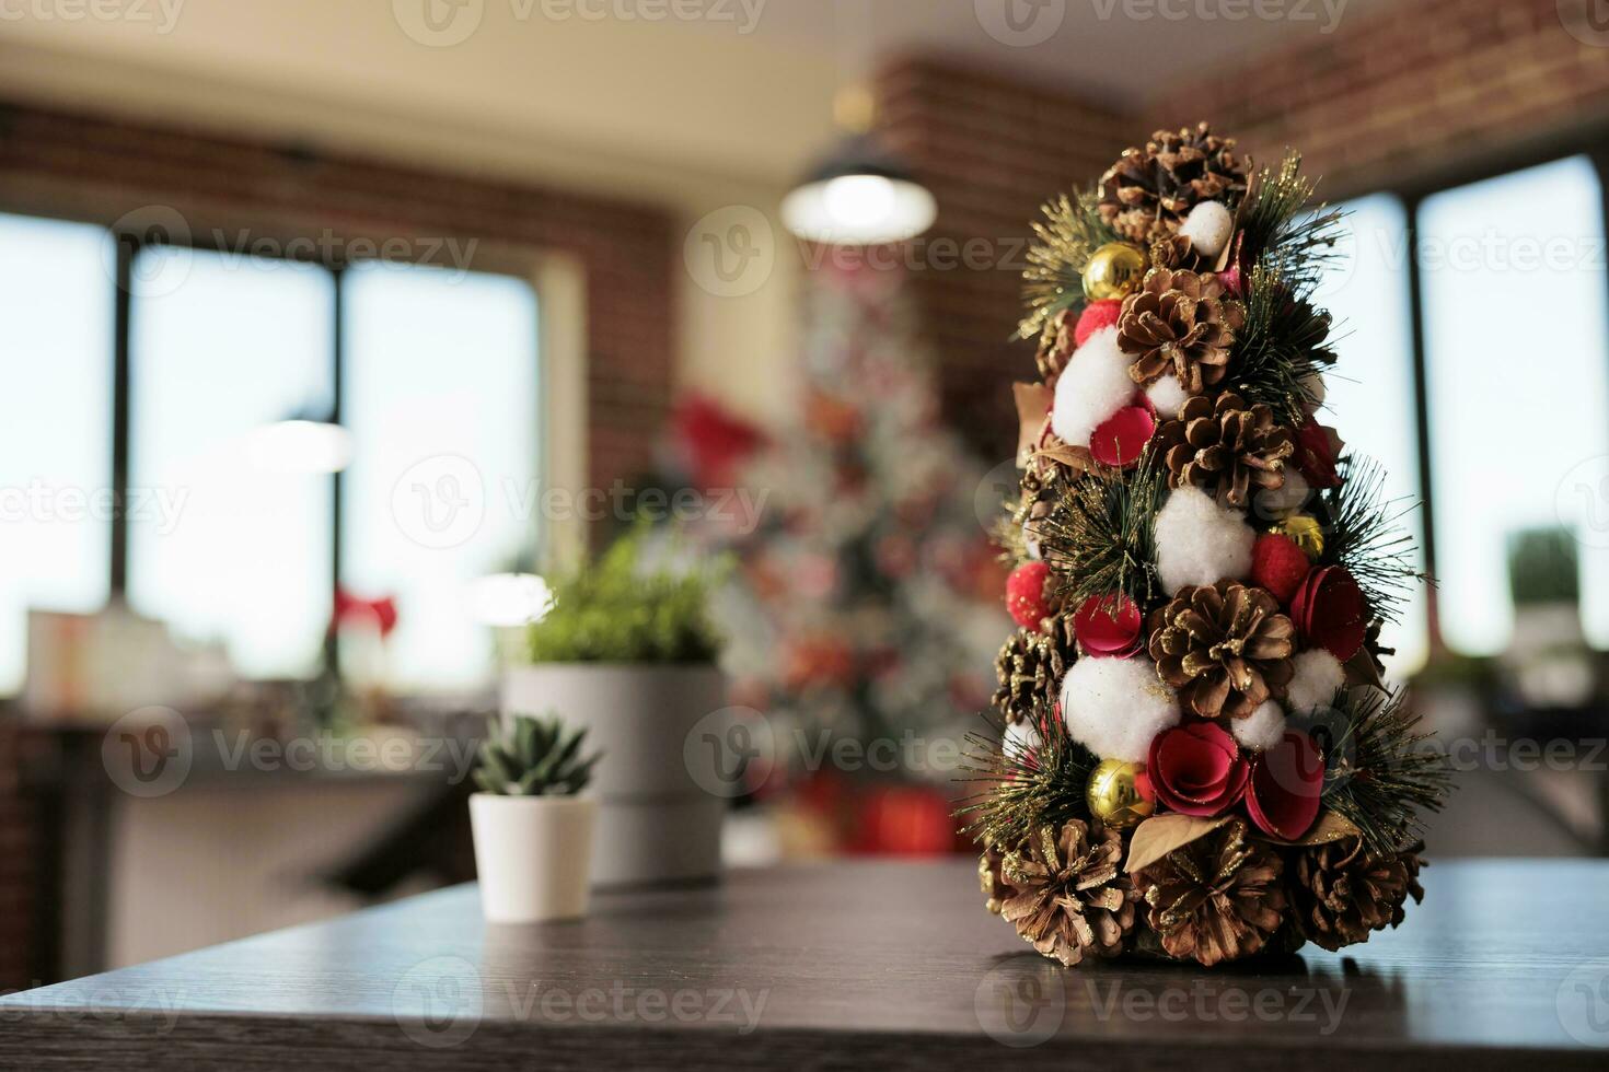
<svg viewBox="0 0 1609 1072">
<path fill-rule="evenodd" d="M 555 717 L 492 720 L 470 794 L 481 910 L 491 923 L 573 919 L 587 911 L 597 800 L 579 792 L 597 754 Z"/>
</svg>

